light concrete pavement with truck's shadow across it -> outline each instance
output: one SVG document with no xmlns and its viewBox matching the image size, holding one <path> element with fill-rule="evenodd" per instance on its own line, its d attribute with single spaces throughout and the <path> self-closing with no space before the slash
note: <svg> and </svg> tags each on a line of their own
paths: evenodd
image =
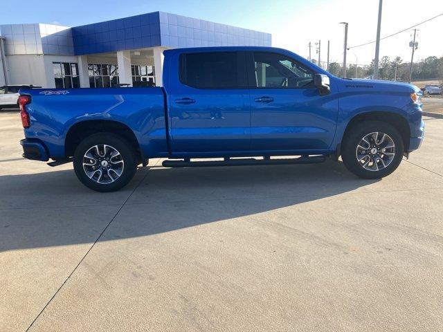
<svg viewBox="0 0 443 332">
<path fill-rule="evenodd" d="M 0 112 L 0 331 L 443 329 L 443 120 L 381 181 L 152 160 L 111 194 L 21 136 Z"/>
</svg>

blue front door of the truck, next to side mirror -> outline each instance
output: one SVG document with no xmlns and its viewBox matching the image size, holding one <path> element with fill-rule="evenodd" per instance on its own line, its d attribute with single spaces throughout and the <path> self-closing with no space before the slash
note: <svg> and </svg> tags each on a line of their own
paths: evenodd
<svg viewBox="0 0 443 332">
<path fill-rule="evenodd" d="M 338 100 L 320 95 L 314 71 L 287 55 L 248 52 L 251 149 L 328 149 Z"/>
</svg>

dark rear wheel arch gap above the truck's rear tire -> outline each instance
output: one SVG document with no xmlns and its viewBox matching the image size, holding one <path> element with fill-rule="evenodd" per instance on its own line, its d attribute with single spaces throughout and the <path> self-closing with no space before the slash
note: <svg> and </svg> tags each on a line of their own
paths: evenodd
<svg viewBox="0 0 443 332">
<path fill-rule="evenodd" d="M 64 154 L 67 158 L 74 155 L 75 149 L 80 142 L 91 136 L 93 133 L 110 132 L 117 136 L 125 138 L 134 148 L 138 160 L 143 160 L 143 152 L 136 138 L 136 134 L 127 124 L 115 120 L 84 120 L 75 122 L 68 132 L 64 140 Z"/>
</svg>

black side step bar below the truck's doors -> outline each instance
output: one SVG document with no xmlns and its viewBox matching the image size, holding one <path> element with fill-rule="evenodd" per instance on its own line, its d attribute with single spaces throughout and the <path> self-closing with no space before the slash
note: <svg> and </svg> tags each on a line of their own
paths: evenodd
<svg viewBox="0 0 443 332">
<path fill-rule="evenodd" d="M 217 166 L 252 166 L 252 165 L 295 165 L 295 164 L 313 164 L 323 163 L 325 156 L 301 156 L 298 158 L 264 159 L 242 158 L 208 161 L 190 161 L 188 160 L 165 160 L 161 165 L 163 167 L 217 167 Z"/>
</svg>

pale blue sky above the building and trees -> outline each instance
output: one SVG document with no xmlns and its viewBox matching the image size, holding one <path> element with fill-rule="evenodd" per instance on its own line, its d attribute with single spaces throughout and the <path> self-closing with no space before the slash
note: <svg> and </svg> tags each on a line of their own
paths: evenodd
<svg viewBox="0 0 443 332">
<path fill-rule="evenodd" d="M 163 11 L 206 19 L 272 34 L 272 46 L 317 58 L 314 43 L 321 41 L 321 61 L 343 61 L 343 25 L 349 23 L 348 46 L 372 42 L 377 34 L 379 0 L 21 0 L 3 1 L 0 24 L 56 23 L 78 26 L 145 12 Z M 422 5 L 422 6 L 420 6 Z M 443 13 L 443 0 L 383 0 L 381 37 Z M 417 27 L 415 60 L 443 56 L 443 16 Z M 400 56 L 410 62 L 408 30 L 382 40 L 380 57 Z M 369 64 L 375 44 L 351 48 L 347 62 Z"/>
</svg>

